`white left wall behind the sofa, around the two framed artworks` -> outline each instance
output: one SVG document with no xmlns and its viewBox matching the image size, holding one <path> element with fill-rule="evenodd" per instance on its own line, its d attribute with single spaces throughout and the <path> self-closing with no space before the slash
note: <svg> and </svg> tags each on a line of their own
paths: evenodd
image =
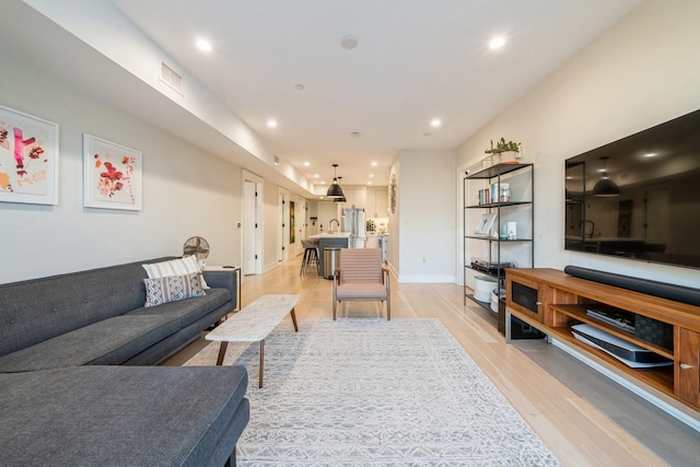
<svg viewBox="0 0 700 467">
<path fill-rule="evenodd" d="M 59 124 L 59 203 L 0 202 L 0 283 L 179 255 L 209 241 L 208 264 L 240 264 L 241 168 L 0 50 L 0 104 Z M 82 207 L 82 135 L 143 153 L 143 209 Z"/>
</svg>

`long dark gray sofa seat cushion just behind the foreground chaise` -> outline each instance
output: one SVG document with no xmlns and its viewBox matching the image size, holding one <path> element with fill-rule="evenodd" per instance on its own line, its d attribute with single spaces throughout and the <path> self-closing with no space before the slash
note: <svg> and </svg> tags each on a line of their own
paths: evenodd
<svg viewBox="0 0 700 467">
<path fill-rule="evenodd" d="M 118 365 L 180 329 L 168 315 L 115 316 L 0 357 L 0 372 Z"/>
</svg>

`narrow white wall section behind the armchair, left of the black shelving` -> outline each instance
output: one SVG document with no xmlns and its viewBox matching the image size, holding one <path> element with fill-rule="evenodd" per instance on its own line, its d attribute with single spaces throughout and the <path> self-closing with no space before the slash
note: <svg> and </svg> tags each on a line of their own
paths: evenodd
<svg viewBox="0 0 700 467">
<path fill-rule="evenodd" d="M 402 150 L 399 161 L 398 280 L 454 282 L 455 152 Z M 389 226 L 393 222 L 389 220 Z M 392 236 L 389 245 L 394 240 Z"/>
</svg>

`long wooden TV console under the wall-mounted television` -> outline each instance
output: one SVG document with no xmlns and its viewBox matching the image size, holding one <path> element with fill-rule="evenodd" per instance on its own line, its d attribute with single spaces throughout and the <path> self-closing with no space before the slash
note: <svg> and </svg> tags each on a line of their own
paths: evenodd
<svg viewBox="0 0 700 467">
<path fill-rule="evenodd" d="M 505 310 L 550 337 L 563 340 L 603 360 L 616 371 L 700 410 L 700 306 L 632 292 L 556 269 L 506 269 Z M 668 348 L 649 342 L 588 315 L 595 305 L 609 305 L 642 317 L 667 324 L 673 332 Z M 648 319 L 646 319 L 648 320 Z M 649 320 L 648 320 L 649 322 Z M 510 317 L 506 317 L 510 323 Z M 588 324 L 673 361 L 673 365 L 631 367 L 574 338 L 571 326 Z M 663 325 L 662 325 L 663 326 Z M 506 338 L 510 330 L 506 329 Z"/>
</svg>

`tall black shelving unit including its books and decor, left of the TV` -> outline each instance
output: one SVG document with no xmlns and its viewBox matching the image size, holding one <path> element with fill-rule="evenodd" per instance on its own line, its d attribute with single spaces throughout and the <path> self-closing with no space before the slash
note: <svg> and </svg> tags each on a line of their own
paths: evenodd
<svg viewBox="0 0 700 467">
<path fill-rule="evenodd" d="M 464 178 L 464 303 L 469 299 L 498 314 L 500 332 L 505 332 L 504 300 L 495 311 L 491 301 L 476 300 L 469 276 L 492 277 L 503 289 L 505 268 L 534 266 L 533 200 L 533 164 L 495 164 Z"/>
</svg>

